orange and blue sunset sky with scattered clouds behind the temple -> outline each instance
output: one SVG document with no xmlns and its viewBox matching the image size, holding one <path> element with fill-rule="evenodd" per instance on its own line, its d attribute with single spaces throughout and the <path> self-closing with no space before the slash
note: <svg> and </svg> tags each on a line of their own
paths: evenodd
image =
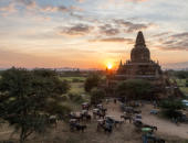
<svg viewBox="0 0 188 143">
<path fill-rule="evenodd" d="M 0 67 L 105 68 L 143 31 L 152 58 L 188 63 L 187 0 L 0 0 Z"/>
</svg>

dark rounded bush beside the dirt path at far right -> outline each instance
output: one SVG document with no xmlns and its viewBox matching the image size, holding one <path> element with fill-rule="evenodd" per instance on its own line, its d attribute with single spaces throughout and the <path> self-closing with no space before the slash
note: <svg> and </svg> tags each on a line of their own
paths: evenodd
<svg viewBox="0 0 188 143">
<path fill-rule="evenodd" d="M 181 116 L 179 110 L 185 108 L 180 100 L 165 100 L 160 102 L 160 107 L 163 116 L 169 119 L 179 118 Z"/>
</svg>

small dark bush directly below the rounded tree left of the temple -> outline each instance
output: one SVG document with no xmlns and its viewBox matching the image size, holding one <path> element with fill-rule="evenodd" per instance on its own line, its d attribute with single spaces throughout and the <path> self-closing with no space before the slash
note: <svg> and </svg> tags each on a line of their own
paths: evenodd
<svg viewBox="0 0 188 143">
<path fill-rule="evenodd" d="M 91 91 L 91 103 L 92 105 L 97 105 L 104 99 L 105 97 L 105 91 L 102 89 L 93 88 Z"/>
</svg>

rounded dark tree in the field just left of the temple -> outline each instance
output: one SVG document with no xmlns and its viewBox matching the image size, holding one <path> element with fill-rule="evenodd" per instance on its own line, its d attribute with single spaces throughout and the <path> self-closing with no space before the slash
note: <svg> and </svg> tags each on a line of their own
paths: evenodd
<svg viewBox="0 0 188 143">
<path fill-rule="evenodd" d="M 92 88 L 95 88 L 100 85 L 101 77 L 96 74 L 92 74 L 87 77 L 87 79 L 84 82 L 85 91 L 90 92 Z"/>
</svg>

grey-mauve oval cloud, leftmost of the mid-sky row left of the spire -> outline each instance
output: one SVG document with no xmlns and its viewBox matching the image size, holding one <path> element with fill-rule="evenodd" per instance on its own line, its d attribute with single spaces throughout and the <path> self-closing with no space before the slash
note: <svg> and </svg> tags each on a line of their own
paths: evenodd
<svg viewBox="0 0 188 143">
<path fill-rule="evenodd" d="M 59 30 L 61 35 L 83 36 L 88 34 L 93 30 L 93 26 L 76 24 L 73 26 L 60 26 Z"/>
</svg>

